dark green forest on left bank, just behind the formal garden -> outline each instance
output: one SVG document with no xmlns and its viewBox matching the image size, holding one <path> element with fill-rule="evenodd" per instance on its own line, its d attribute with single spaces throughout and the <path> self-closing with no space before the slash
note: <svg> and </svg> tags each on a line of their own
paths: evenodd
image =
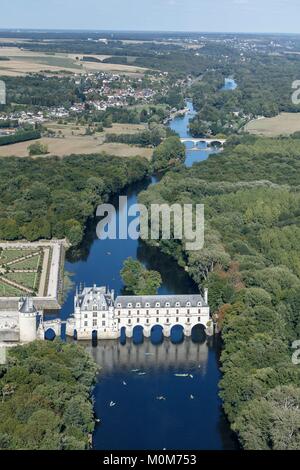
<svg viewBox="0 0 300 470">
<path fill-rule="evenodd" d="M 144 158 L 106 154 L 1 158 L 0 166 L 0 239 L 66 237 L 74 246 L 97 205 L 149 170 Z"/>
</svg>

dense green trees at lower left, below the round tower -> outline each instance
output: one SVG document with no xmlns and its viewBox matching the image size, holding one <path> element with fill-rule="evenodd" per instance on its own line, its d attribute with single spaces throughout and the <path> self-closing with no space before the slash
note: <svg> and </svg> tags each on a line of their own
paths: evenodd
<svg viewBox="0 0 300 470">
<path fill-rule="evenodd" d="M 1 450 L 87 450 L 94 430 L 97 366 L 75 344 L 11 348 L 0 366 Z"/>
</svg>

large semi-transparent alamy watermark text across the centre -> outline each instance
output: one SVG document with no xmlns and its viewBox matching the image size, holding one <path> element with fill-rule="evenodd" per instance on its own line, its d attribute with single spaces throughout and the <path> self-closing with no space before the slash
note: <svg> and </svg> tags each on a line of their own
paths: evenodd
<svg viewBox="0 0 300 470">
<path fill-rule="evenodd" d="M 204 246 L 203 204 L 128 205 L 127 196 L 119 197 L 119 210 L 112 204 L 101 204 L 97 217 L 100 240 L 182 240 L 187 251 Z M 131 219 L 131 220 L 129 220 Z"/>
</svg>

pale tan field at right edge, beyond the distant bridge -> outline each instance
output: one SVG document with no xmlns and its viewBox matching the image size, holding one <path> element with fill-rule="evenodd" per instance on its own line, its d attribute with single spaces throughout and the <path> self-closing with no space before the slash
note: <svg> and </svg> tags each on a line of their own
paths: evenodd
<svg viewBox="0 0 300 470">
<path fill-rule="evenodd" d="M 300 113 L 281 113 L 273 118 L 256 119 L 249 122 L 244 130 L 266 137 L 290 135 L 300 131 Z"/>
</svg>

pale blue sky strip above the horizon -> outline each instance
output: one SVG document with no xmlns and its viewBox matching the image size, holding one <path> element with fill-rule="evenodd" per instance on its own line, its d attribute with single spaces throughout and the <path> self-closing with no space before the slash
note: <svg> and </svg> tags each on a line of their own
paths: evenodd
<svg viewBox="0 0 300 470">
<path fill-rule="evenodd" d="M 0 29 L 300 33 L 300 0 L 0 0 Z"/>
</svg>

